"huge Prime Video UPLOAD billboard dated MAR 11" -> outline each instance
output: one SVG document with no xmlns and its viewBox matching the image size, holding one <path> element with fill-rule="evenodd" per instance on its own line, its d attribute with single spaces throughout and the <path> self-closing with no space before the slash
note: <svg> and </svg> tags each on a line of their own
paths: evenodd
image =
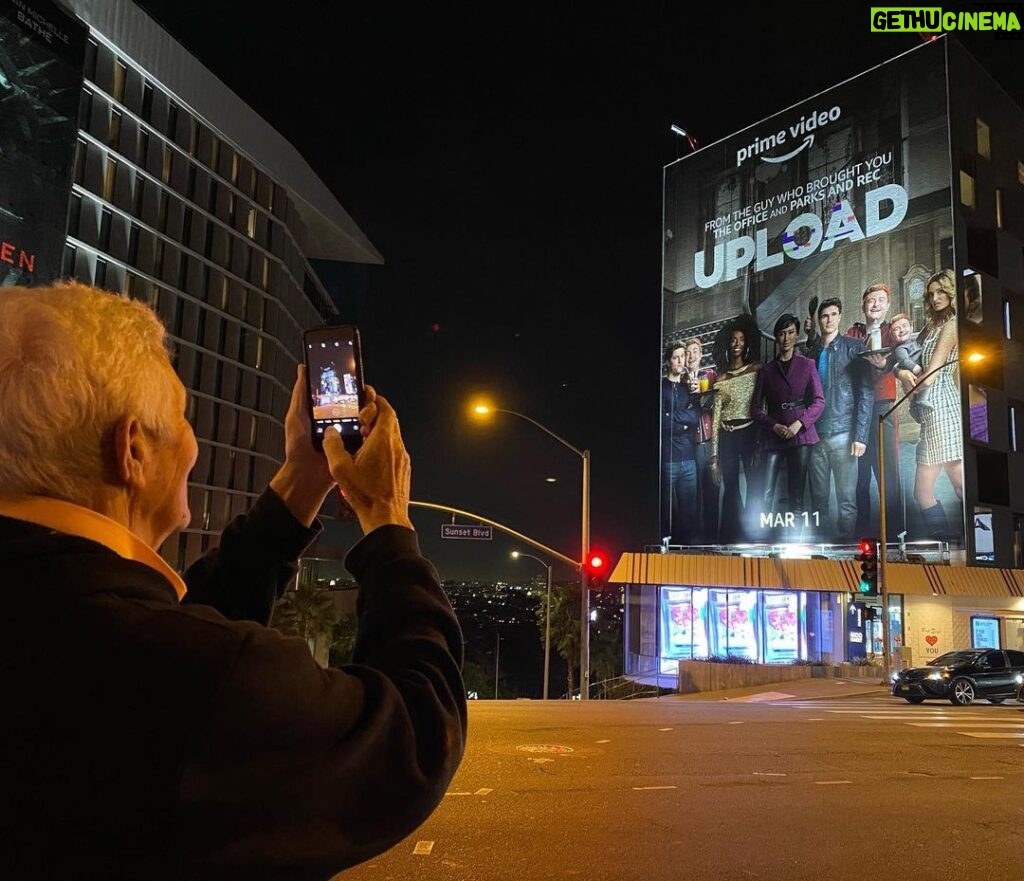
<svg viewBox="0 0 1024 881">
<path fill-rule="evenodd" d="M 943 52 L 666 168 L 663 543 L 963 545 Z"/>
</svg>

